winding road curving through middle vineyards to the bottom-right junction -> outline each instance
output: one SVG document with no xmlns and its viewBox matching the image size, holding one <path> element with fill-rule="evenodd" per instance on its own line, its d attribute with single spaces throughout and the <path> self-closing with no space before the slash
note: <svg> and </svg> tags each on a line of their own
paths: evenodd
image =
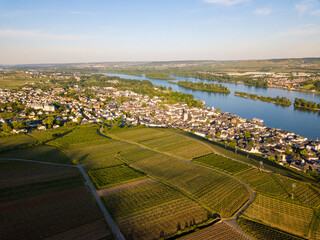
<svg viewBox="0 0 320 240">
<path fill-rule="evenodd" d="M 213 169 L 213 168 L 209 168 L 209 167 L 206 167 L 206 166 L 203 166 L 203 165 L 200 165 L 200 164 L 197 164 L 197 163 L 188 161 L 188 160 L 183 160 L 183 159 L 180 159 L 180 158 L 177 158 L 177 157 L 174 157 L 174 156 L 171 156 L 171 155 L 162 153 L 162 152 L 157 152 L 157 151 L 155 151 L 155 150 L 153 150 L 153 149 L 145 148 L 145 147 L 143 147 L 143 146 L 141 146 L 141 145 L 139 145 L 139 144 L 136 144 L 136 143 L 131 143 L 131 142 L 127 142 L 127 141 L 124 141 L 124 140 L 119 140 L 119 139 L 111 138 L 111 137 L 109 137 L 109 136 L 104 135 L 104 134 L 102 133 L 102 129 L 100 129 L 100 131 L 99 131 L 98 133 L 99 133 L 99 135 L 101 135 L 101 136 L 103 136 L 103 137 L 106 137 L 106 138 L 109 138 L 109 139 L 112 139 L 112 140 L 115 140 L 115 141 L 120 141 L 120 142 L 124 142 L 124 143 L 128 143 L 128 144 L 132 144 L 132 145 L 138 146 L 138 147 L 140 147 L 140 148 L 148 149 L 148 150 L 150 150 L 150 151 L 152 151 L 152 152 L 162 154 L 162 155 L 164 155 L 164 156 L 168 156 L 168 157 L 171 157 L 171 158 L 174 158 L 174 159 L 183 161 L 183 162 L 188 162 L 188 163 L 194 164 L 194 165 L 196 165 L 196 166 L 200 166 L 200 167 L 209 169 L 209 170 L 211 170 L 211 171 L 215 171 L 215 172 L 221 173 L 221 174 L 226 175 L 226 176 L 228 176 L 228 177 L 236 180 L 237 182 L 243 184 L 243 185 L 248 189 L 248 191 L 249 191 L 249 193 L 250 193 L 250 195 L 251 195 L 250 200 L 237 212 L 237 214 L 236 214 L 233 218 L 231 218 L 231 219 L 222 219 L 222 220 L 223 220 L 225 223 L 227 223 L 229 226 L 231 226 L 231 227 L 233 227 L 234 229 L 236 229 L 236 230 L 237 230 L 238 232 L 240 232 L 242 235 L 244 235 L 245 237 L 247 237 L 248 239 L 253 240 L 253 238 L 251 238 L 248 234 L 246 234 L 244 231 L 242 231 L 242 229 L 241 229 L 241 228 L 238 226 L 238 224 L 237 224 L 237 219 L 238 219 L 238 217 L 240 216 L 240 214 L 241 214 L 242 212 L 244 212 L 244 211 L 249 207 L 249 205 L 253 202 L 253 200 L 254 200 L 254 192 L 253 192 L 253 190 L 252 190 L 247 184 L 245 184 L 244 182 L 240 181 L 239 179 L 237 179 L 237 178 L 235 178 L 235 177 L 233 177 L 233 176 L 231 176 L 231 175 L 229 175 L 229 174 L 227 174 L 227 173 L 220 172 L 220 171 L 215 170 L 215 169 Z M 187 138 L 190 138 L 190 137 L 187 137 Z M 190 138 L 190 139 L 191 139 L 191 138 Z M 192 140 L 194 140 L 194 139 L 192 139 Z M 205 144 L 205 143 L 201 142 L 200 140 L 196 140 L 196 141 L 198 141 L 198 142 L 200 142 L 200 143 L 202 143 L 202 144 Z M 205 145 L 208 146 L 207 144 L 205 144 Z M 208 147 L 209 147 L 209 146 L 208 146 Z M 212 148 L 211 148 L 211 149 L 212 149 Z M 213 150 L 213 149 L 212 149 L 212 150 Z M 233 159 L 231 159 L 231 160 L 233 160 Z"/>
</svg>

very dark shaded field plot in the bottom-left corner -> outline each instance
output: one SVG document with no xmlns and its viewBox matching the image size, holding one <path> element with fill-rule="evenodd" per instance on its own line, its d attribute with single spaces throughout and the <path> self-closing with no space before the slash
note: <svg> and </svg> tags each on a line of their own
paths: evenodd
<svg viewBox="0 0 320 240">
<path fill-rule="evenodd" d="M 0 238 L 42 239 L 101 217 L 86 187 L 0 203 Z"/>
</svg>

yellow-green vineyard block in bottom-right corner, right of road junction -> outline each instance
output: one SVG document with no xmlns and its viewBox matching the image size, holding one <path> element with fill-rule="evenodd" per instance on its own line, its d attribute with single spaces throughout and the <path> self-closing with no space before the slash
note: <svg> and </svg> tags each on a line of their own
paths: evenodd
<svg viewBox="0 0 320 240">
<path fill-rule="evenodd" d="M 244 215 L 271 227 L 308 237 L 313 210 L 259 194 Z"/>
</svg>

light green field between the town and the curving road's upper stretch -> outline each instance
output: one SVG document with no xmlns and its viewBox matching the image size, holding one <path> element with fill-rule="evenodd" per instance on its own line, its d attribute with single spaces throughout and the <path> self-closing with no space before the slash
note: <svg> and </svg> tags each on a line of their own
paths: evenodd
<svg viewBox="0 0 320 240">
<path fill-rule="evenodd" d="M 111 129 L 104 133 L 186 160 L 212 153 L 206 145 L 164 129 L 129 127 Z"/>
</svg>

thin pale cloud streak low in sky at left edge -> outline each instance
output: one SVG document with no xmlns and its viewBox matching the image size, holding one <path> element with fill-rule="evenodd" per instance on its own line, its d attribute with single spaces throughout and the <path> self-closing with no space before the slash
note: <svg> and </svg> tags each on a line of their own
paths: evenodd
<svg viewBox="0 0 320 240">
<path fill-rule="evenodd" d="M 38 39 L 54 39 L 76 41 L 89 39 L 82 35 L 67 35 L 67 34 L 51 34 L 39 30 L 14 30 L 14 29 L 0 29 L 0 38 L 21 39 L 21 40 L 38 40 Z"/>
</svg>

